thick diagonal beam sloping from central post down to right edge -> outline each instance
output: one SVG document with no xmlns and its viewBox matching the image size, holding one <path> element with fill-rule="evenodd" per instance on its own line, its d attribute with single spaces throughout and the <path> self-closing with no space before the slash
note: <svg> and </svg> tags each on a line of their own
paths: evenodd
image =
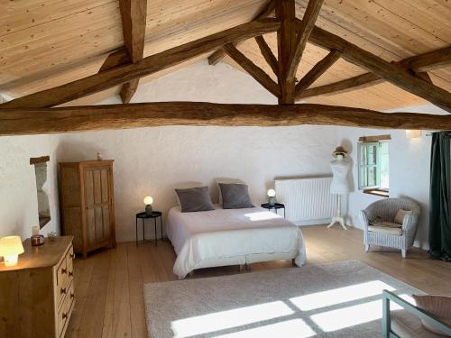
<svg viewBox="0 0 451 338">
<path fill-rule="evenodd" d="M 297 25 L 299 28 L 301 27 L 300 20 L 297 20 Z M 369 51 L 362 50 L 339 36 L 318 27 L 313 29 L 308 41 L 328 50 L 340 51 L 345 60 L 368 69 L 394 86 L 422 97 L 451 113 L 451 94 L 445 89 L 434 86 L 423 78 L 415 76 L 410 71 L 391 64 Z"/>
</svg>

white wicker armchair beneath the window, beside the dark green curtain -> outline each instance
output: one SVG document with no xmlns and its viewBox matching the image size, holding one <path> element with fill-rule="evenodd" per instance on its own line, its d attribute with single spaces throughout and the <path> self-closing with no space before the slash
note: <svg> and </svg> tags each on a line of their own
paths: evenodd
<svg viewBox="0 0 451 338">
<path fill-rule="evenodd" d="M 411 215 L 405 215 L 399 228 L 385 228 L 371 226 L 371 222 L 380 218 L 383 222 L 394 222 L 398 210 L 411 211 Z M 360 212 L 364 224 L 365 251 L 370 250 L 370 245 L 385 246 L 400 249 L 402 257 L 415 241 L 419 221 L 419 205 L 402 198 L 384 198 L 367 206 Z"/>
</svg>

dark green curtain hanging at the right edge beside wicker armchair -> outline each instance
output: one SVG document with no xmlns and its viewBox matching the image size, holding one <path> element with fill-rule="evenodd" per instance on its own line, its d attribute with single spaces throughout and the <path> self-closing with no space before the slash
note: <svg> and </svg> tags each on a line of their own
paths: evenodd
<svg viewBox="0 0 451 338">
<path fill-rule="evenodd" d="M 449 132 L 434 132 L 430 156 L 429 254 L 451 261 Z"/>
</svg>

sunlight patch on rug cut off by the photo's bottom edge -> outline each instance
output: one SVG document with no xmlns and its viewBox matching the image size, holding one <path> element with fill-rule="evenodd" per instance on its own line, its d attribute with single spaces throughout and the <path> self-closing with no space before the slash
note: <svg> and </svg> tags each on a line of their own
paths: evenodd
<svg viewBox="0 0 451 338">
<path fill-rule="evenodd" d="M 236 333 L 217 335 L 216 338 L 308 338 L 316 334 L 302 319 L 292 319 Z"/>
</svg>

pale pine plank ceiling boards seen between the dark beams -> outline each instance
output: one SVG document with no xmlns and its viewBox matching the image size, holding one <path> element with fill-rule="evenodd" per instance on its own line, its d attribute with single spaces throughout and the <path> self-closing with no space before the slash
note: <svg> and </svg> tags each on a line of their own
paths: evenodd
<svg viewBox="0 0 451 338">
<path fill-rule="evenodd" d="M 247 23 L 260 13 L 265 3 L 262 0 L 148 1 L 144 57 Z M 296 2 L 299 18 L 307 4 L 307 0 Z M 316 24 L 388 61 L 399 61 L 451 44 L 451 5 L 446 0 L 326 0 Z M 264 37 L 277 55 L 276 34 Z M 96 74 L 106 57 L 123 45 L 117 0 L 2 1 L 0 92 L 13 97 L 25 96 Z M 276 80 L 253 39 L 240 44 L 238 50 Z M 308 43 L 297 78 L 302 78 L 327 53 L 328 50 Z M 140 83 L 206 57 L 152 74 Z M 223 60 L 241 70 L 232 59 Z M 338 59 L 311 87 L 366 72 Z M 428 74 L 435 85 L 451 91 L 451 66 L 429 70 Z M 118 91 L 119 87 L 115 87 L 80 98 L 76 103 L 86 105 Z M 425 103 L 422 98 L 386 82 L 336 95 L 308 97 L 305 101 L 377 110 Z"/>
</svg>

